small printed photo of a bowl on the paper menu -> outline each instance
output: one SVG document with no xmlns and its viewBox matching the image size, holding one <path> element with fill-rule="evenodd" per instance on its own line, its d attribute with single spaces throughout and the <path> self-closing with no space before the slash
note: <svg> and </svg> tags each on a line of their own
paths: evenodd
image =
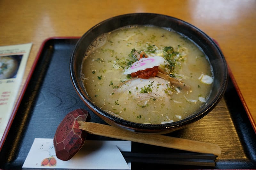
<svg viewBox="0 0 256 170">
<path fill-rule="evenodd" d="M 16 78 L 22 56 L 0 56 L 0 80 Z"/>
</svg>

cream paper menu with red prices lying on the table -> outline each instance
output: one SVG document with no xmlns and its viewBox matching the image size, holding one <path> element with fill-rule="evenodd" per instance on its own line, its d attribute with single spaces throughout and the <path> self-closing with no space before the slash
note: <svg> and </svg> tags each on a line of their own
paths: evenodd
<svg viewBox="0 0 256 170">
<path fill-rule="evenodd" d="M 0 139 L 9 122 L 32 43 L 0 46 Z"/>
</svg>

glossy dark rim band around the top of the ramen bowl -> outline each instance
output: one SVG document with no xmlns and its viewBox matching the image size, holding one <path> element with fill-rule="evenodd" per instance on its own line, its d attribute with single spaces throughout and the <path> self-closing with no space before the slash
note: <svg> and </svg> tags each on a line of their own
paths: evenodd
<svg viewBox="0 0 256 170">
<path fill-rule="evenodd" d="M 153 16 L 162 16 L 162 17 L 167 17 L 170 19 L 174 19 L 177 20 L 179 22 L 182 22 L 182 24 L 186 24 L 189 27 L 191 27 L 194 31 L 198 32 L 199 34 L 203 35 L 205 38 L 207 38 L 207 40 L 212 43 L 212 45 L 216 48 L 216 50 L 219 52 L 220 54 L 220 58 L 223 61 L 223 65 L 224 65 L 224 76 L 223 76 L 223 83 L 220 86 L 220 90 L 217 93 L 217 97 L 215 97 L 211 103 L 207 104 L 208 107 L 206 107 L 205 109 L 196 112 L 194 115 L 188 116 L 187 118 L 183 119 L 183 120 L 179 120 L 179 121 L 175 121 L 175 122 L 170 122 L 170 123 L 165 123 L 165 124 L 143 124 L 143 123 L 136 123 L 136 122 L 131 122 L 128 120 L 124 120 L 124 119 L 120 119 L 116 116 L 113 116 L 105 111 L 103 111 L 102 109 L 100 109 L 98 106 L 96 106 L 95 104 L 93 104 L 93 102 L 89 99 L 89 97 L 87 97 L 83 90 L 81 90 L 78 81 L 76 80 L 76 71 L 74 69 L 74 60 L 75 60 L 75 55 L 76 55 L 76 50 L 78 49 L 79 45 L 82 42 L 82 39 L 84 37 L 86 37 L 86 35 L 90 34 L 90 32 L 99 27 L 100 25 L 102 25 L 105 22 L 108 22 L 109 20 L 112 19 L 121 19 L 123 17 L 132 17 L 132 16 L 141 16 L 141 15 L 153 15 Z M 134 25 L 134 24 L 132 24 Z M 109 31 L 106 31 L 109 32 Z M 99 36 L 99 35 L 97 35 Z M 84 56 L 83 56 L 84 57 Z M 220 99 L 222 98 L 222 96 L 224 95 L 224 92 L 227 88 L 227 84 L 228 84 L 228 67 L 227 67 L 227 63 L 225 60 L 224 55 L 222 54 L 219 46 L 213 41 L 212 38 L 210 38 L 208 35 L 206 35 L 202 30 L 200 30 L 199 28 L 193 26 L 192 24 L 172 17 L 172 16 L 168 16 L 168 15 L 163 15 L 163 14 L 157 14 L 157 13 L 128 13 L 128 14 L 123 14 L 123 15 L 118 15 L 115 17 L 111 17 L 109 19 L 105 19 L 103 21 L 101 21 L 100 23 L 96 24 L 95 26 L 93 26 L 92 28 L 90 28 L 88 31 L 86 31 L 84 33 L 84 35 L 81 36 L 81 38 L 77 41 L 74 50 L 72 52 L 71 58 L 70 58 L 70 77 L 73 83 L 73 86 L 76 90 L 76 92 L 78 93 L 79 97 L 84 101 L 84 103 L 87 105 L 87 107 L 90 108 L 90 110 L 92 110 L 96 115 L 98 116 L 103 116 L 106 119 L 110 120 L 110 121 L 114 121 L 115 123 L 117 123 L 117 125 L 121 126 L 121 127 L 127 127 L 127 128 L 131 128 L 131 129 L 141 129 L 141 130 L 147 130 L 147 131 L 156 131 L 156 130 L 163 130 L 163 131 L 168 131 L 169 129 L 177 129 L 177 128 L 182 128 L 184 126 L 187 126 L 188 124 L 191 124 L 197 120 L 200 120 L 201 118 L 203 118 L 205 115 L 207 115 L 209 112 L 212 111 L 212 109 L 220 102 Z M 81 70 L 81 69 L 80 69 Z"/>
</svg>

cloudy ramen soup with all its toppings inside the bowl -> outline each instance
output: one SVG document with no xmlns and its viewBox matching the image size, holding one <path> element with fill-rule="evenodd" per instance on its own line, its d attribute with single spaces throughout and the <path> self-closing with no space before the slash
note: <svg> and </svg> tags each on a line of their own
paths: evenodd
<svg viewBox="0 0 256 170">
<path fill-rule="evenodd" d="M 207 102 L 213 81 L 209 60 L 195 43 L 154 26 L 101 35 L 88 48 L 81 74 L 88 96 L 102 110 L 148 124 L 195 113 Z"/>
</svg>

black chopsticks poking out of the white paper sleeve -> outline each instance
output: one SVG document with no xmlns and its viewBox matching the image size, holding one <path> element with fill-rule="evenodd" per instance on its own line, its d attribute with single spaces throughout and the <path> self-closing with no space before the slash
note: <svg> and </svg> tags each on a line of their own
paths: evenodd
<svg viewBox="0 0 256 170">
<path fill-rule="evenodd" d="M 172 164 L 190 166 L 216 166 L 216 156 L 203 153 L 134 153 L 122 152 L 127 162 Z"/>
</svg>

